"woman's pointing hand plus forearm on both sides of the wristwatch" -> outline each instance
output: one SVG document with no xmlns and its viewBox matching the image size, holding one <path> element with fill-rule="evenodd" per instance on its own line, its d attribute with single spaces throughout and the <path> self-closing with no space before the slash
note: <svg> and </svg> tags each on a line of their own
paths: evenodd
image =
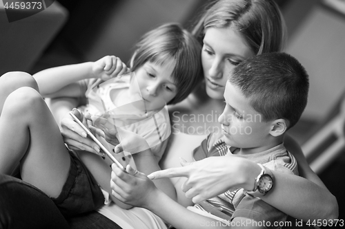
<svg viewBox="0 0 345 229">
<path fill-rule="evenodd" d="M 215 197 L 234 186 L 252 190 L 254 179 L 260 173 L 257 164 L 241 157 L 208 157 L 181 164 L 183 167 L 157 171 L 148 177 L 187 177 L 182 190 L 186 197 L 193 198 L 194 203 Z M 272 173 L 274 188 L 262 200 L 296 219 L 337 219 L 337 200 L 326 188 L 296 175 Z"/>
</svg>

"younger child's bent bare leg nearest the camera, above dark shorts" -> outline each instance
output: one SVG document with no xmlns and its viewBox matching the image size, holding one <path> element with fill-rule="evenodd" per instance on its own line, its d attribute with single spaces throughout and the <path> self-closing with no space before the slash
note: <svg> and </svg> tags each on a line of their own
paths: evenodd
<svg viewBox="0 0 345 229">
<path fill-rule="evenodd" d="M 5 100 L 0 117 L 0 146 L 0 173 L 10 174 L 20 161 L 24 181 L 51 197 L 61 193 L 70 156 L 57 123 L 37 90 L 21 87 Z"/>
</svg>

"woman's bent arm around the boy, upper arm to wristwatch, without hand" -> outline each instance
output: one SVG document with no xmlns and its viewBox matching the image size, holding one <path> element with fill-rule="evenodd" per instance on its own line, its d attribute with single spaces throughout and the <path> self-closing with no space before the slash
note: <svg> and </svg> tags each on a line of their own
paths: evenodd
<svg viewBox="0 0 345 229">
<path fill-rule="evenodd" d="M 295 156 L 302 177 L 272 171 L 275 186 L 262 199 L 296 219 L 337 219 L 337 199 L 311 170 L 301 147 L 288 135 L 284 145 Z"/>
</svg>

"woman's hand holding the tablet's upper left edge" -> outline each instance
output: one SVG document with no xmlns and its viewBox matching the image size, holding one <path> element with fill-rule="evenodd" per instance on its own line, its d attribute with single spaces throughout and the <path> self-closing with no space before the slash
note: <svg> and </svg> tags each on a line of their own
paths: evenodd
<svg viewBox="0 0 345 229">
<path fill-rule="evenodd" d="M 86 127 L 88 127 L 81 111 L 73 109 L 72 112 Z M 89 151 L 98 155 L 103 155 L 103 153 L 99 152 L 99 146 L 91 138 L 88 138 L 87 133 L 68 113 L 61 119 L 61 135 L 69 149 Z"/>
</svg>

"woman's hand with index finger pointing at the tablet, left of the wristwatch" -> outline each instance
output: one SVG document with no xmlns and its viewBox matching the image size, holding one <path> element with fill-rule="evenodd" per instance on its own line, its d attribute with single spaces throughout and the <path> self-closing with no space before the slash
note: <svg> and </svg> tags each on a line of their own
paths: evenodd
<svg viewBox="0 0 345 229">
<path fill-rule="evenodd" d="M 181 160 L 181 165 L 156 171 L 148 177 L 187 177 L 182 190 L 194 203 L 215 197 L 233 187 L 253 190 L 254 179 L 261 171 L 254 162 L 236 156 L 208 157 L 197 162 Z"/>
</svg>

